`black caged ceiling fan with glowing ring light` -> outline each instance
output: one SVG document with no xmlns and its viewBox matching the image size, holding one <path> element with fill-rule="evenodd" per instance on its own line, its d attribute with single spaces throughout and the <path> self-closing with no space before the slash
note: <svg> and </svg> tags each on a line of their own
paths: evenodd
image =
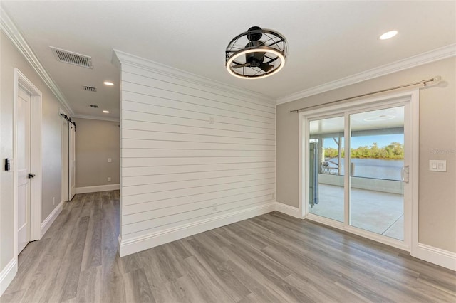
<svg viewBox="0 0 456 303">
<path fill-rule="evenodd" d="M 225 65 L 238 78 L 264 78 L 284 67 L 286 52 L 284 36 L 254 26 L 228 43 Z"/>
</svg>

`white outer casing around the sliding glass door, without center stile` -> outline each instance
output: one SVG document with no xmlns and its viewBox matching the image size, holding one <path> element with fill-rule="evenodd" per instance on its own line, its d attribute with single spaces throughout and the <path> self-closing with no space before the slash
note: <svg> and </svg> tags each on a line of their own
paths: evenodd
<svg viewBox="0 0 456 303">
<path fill-rule="evenodd" d="M 318 222 L 329 225 L 333 228 L 346 230 L 350 233 L 361 235 L 364 238 L 369 238 L 380 243 L 395 246 L 397 248 L 407 250 L 408 252 L 415 251 L 418 248 L 418 149 L 419 149 L 419 90 L 405 90 L 393 94 L 382 95 L 380 97 L 371 97 L 352 102 L 343 102 L 338 105 L 328 105 L 319 107 L 313 110 L 303 110 L 299 112 L 299 213 L 301 218 L 315 220 L 315 216 L 309 216 L 309 199 L 307 185 L 309 180 L 309 164 L 306 162 L 309 142 L 304 141 L 304 136 L 309 137 L 309 129 L 306 127 L 308 117 L 331 115 L 337 111 L 356 110 L 363 106 L 375 106 L 376 103 L 383 105 L 395 105 L 400 102 L 408 102 L 410 115 L 405 117 L 405 123 L 410 125 L 410 133 L 405 134 L 405 140 L 410 142 L 409 157 L 410 157 L 410 173 L 409 173 L 409 188 L 408 195 L 410 203 L 405 203 L 404 207 L 404 241 L 388 239 L 384 236 L 374 235 L 371 232 L 361 230 L 350 226 L 347 228 L 347 223 L 338 223 L 328 218 L 318 218 Z M 407 152 L 407 151 L 406 151 Z M 304 176 L 305 174 L 305 176 Z M 310 214 L 311 215 L 311 214 Z"/>
</svg>

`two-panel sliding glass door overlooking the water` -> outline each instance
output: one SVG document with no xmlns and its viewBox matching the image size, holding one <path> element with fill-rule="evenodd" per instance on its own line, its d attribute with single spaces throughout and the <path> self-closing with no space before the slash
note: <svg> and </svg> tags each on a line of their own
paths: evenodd
<svg viewBox="0 0 456 303">
<path fill-rule="evenodd" d="M 308 218 L 402 246 L 408 108 L 385 102 L 304 116 Z"/>
</svg>

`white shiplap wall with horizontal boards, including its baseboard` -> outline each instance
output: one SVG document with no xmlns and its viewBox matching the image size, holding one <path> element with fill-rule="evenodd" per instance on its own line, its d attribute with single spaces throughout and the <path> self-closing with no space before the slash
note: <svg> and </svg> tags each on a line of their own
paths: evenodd
<svg viewBox="0 0 456 303">
<path fill-rule="evenodd" d="M 274 103 L 115 53 L 121 256 L 274 211 Z"/>
</svg>

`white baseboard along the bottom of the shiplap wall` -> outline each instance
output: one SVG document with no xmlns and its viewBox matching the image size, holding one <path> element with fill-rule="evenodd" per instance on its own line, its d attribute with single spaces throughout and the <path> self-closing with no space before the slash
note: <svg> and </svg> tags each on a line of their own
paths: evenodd
<svg viewBox="0 0 456 303">
<path fill-rule="evenodd" d="M 246 220 L 248 218 L 264 215 L 275 211 L 276 203 L 267 203 L 262 206 L 255 206 L 252 208 L 243 209 L 241 211 L 234 211 L 233 213 L 227 213 L 222 216 L 215 216 L 197 222 L 187 223 L 174 228 L 168 228 L 166 230 L 160 230 L 149 235 L 143 235 L 137 238 L 123 240 L 119 236 L 119 255 L 124 257 L 141 250 L 147 250 L 154 248 L 155 246 L 169 243 L 175 240 L 179 240 L 190 235 L 196 235 L 207 230 L 219 228 L 224 225 Z"/>
</svg>

